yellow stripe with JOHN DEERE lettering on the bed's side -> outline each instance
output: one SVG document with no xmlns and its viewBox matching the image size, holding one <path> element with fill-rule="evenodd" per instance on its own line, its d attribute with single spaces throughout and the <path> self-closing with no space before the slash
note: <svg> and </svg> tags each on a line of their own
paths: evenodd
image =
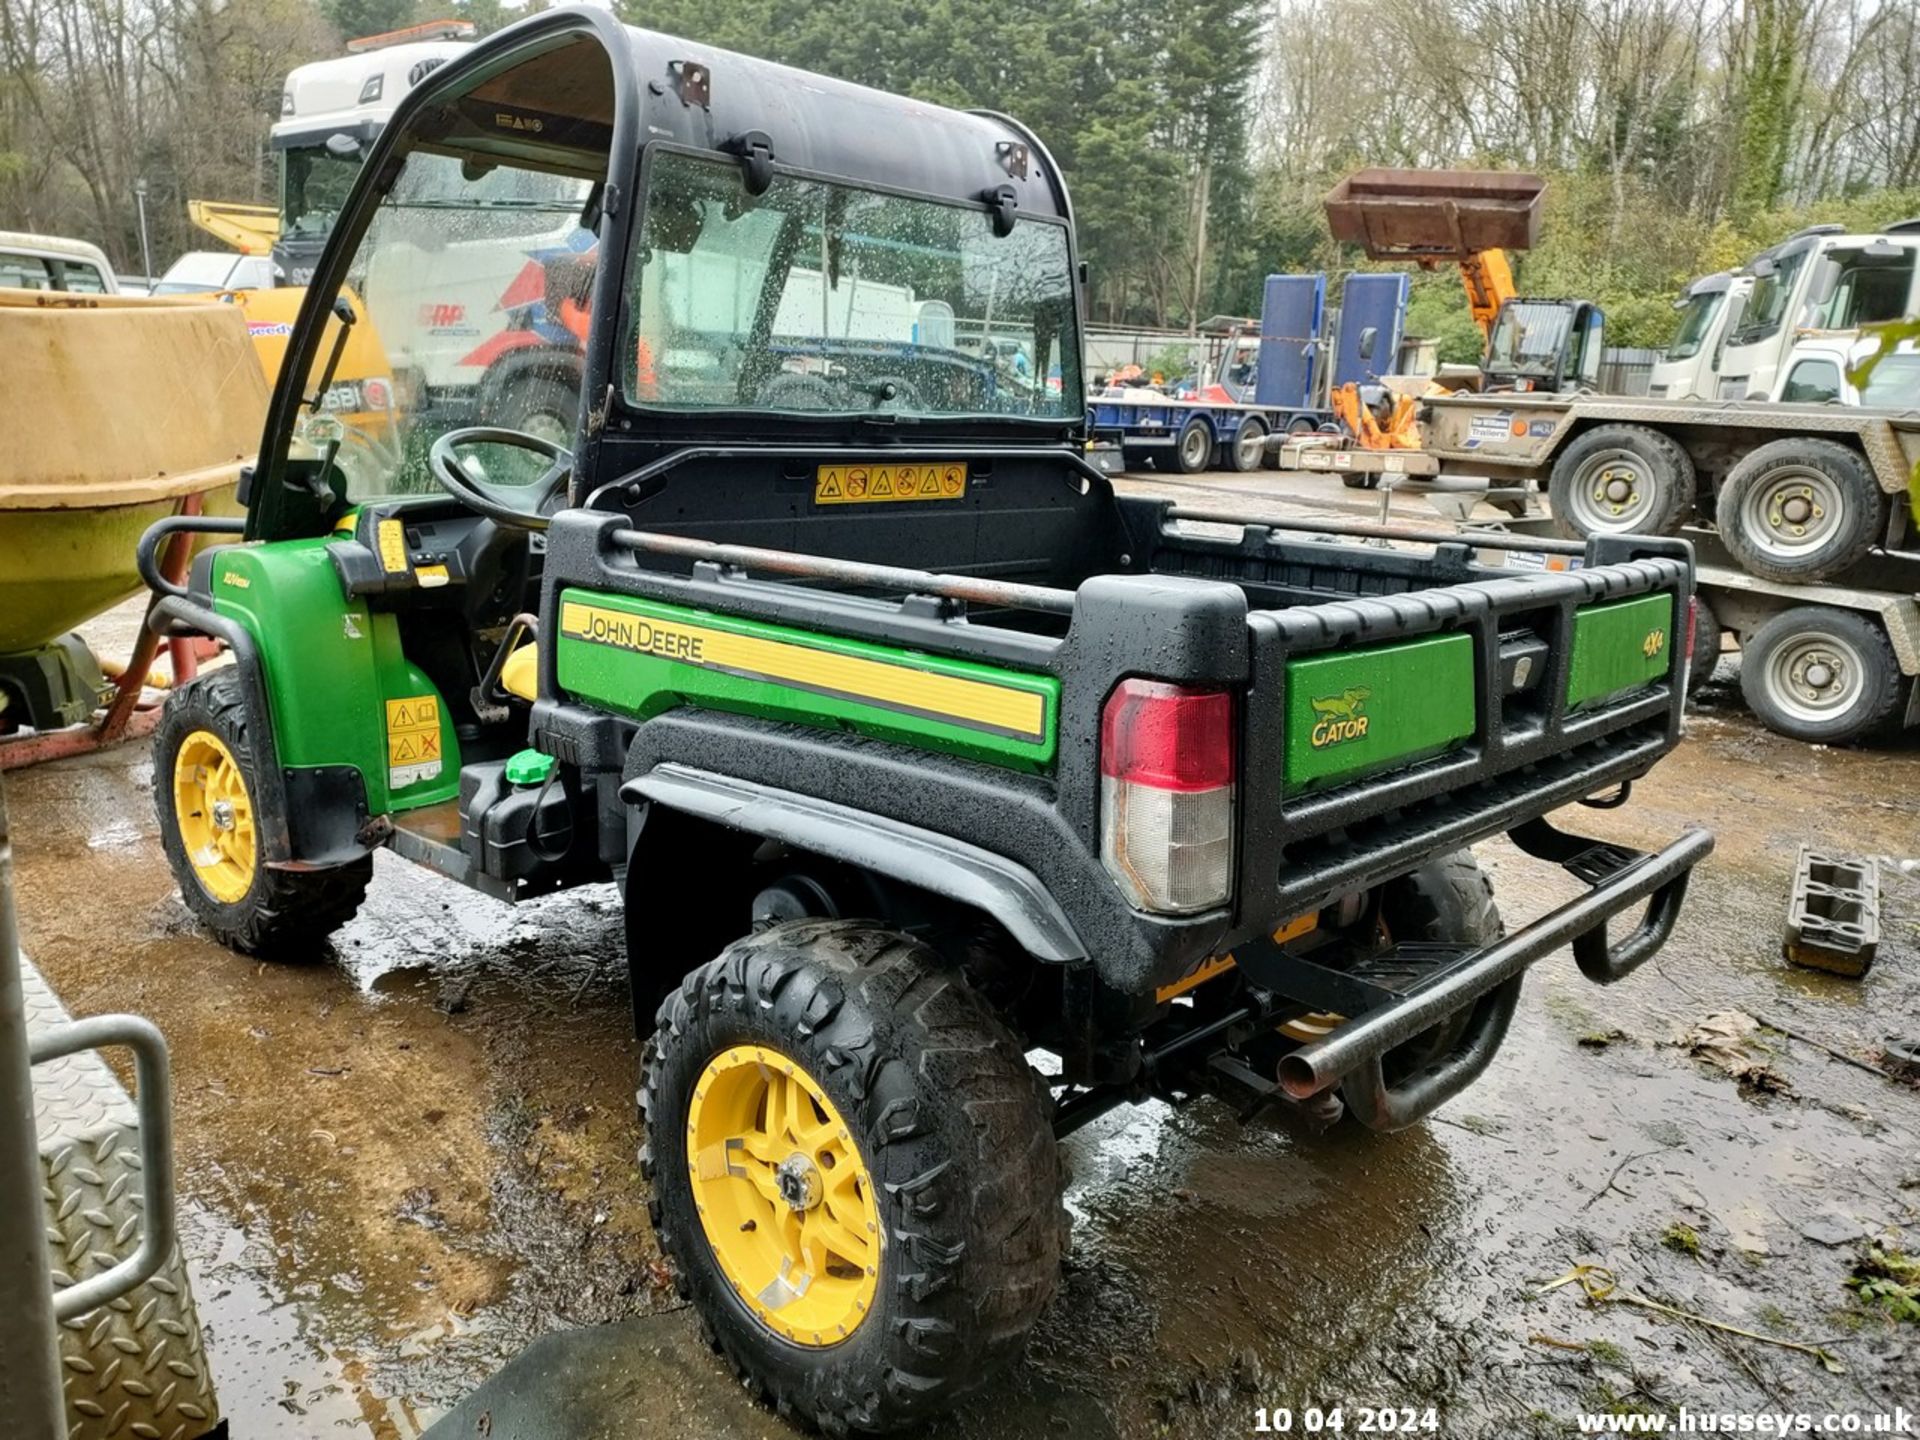
<svg viewBox="0 0 1920 1440">
<path fill-rule="evenodd" d="M 628 614 L 580 601 L 561 605 L 561 634 L 707 670 L 726 670 L 747 680 L 770 680 L 891 710 L 956 720 L 1020 739 L 1041 739 L 1046 733 L 1044 695 L 995 685 L 989 680 L 935 674 L 864 655 Z"/>
</svg>

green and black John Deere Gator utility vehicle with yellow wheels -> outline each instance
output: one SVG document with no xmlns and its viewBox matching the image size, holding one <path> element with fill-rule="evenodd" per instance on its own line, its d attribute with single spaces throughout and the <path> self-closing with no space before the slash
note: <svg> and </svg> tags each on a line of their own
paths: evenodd
<svg viewBox="0 0 1920 1440">
<path fill-rule="evenodd" d="M 403 342 L 442 248 L 545 234 L 490 198 L 551 186 L 503 171 L 578 184 L 572 444 L 403 376 L 363 438 L 342 326 Z M 1711 849 L 1544 818 L 1674 745 L 1684 543 L 1509 570 L 1117 497 L 1081 286 L 1016 121 L 541 13 L 372 142 L 246 543 L 154 611 L 234 655 L 171 697 L 154 785 L 223 941 L 311 954 L 382 849 L 501 900 L 624 889 L 660 1244 L 835 1432 L 1020 1350 L 1060 1135 L 1210 1089 L 1413 1123 L 1528 964 L 1619 979 Z M 1586 889 L 1503 931 L 1463 849 L 1498 833 Z"/>
</svg>

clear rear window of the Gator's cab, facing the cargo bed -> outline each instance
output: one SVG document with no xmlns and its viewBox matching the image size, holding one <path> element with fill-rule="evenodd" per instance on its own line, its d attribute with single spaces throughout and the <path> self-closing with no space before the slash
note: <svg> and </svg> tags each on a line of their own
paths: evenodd
<svg viewBox="0 0 1920 1440">
<path fill-rule="evenodd" d="M 676 411 L 1027 417 L 1081 407 L 1068 232 L 659 152 L 624 394 Z"/>
</svg>

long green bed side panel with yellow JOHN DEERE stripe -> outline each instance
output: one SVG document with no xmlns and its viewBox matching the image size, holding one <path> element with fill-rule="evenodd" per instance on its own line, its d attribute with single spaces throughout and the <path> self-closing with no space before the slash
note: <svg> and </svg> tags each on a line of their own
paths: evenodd
<svg viewBox="0 0 1920 1440">
<path fill-rule="evenodd" d="M 584 624 L 580 616 L 595 611 L 601 637 L 572 634 Z M 668 628 L 609 624 L 607 612 Z M 563 591 L 555 632 L 561 689 L 641 720 L 691 705 L 843 728 L 1021 770 L 1043 770 L 1054 758 L 1060 682 L 1052 676 L 589 589 Z M 664 653 L 676 645 L 678 653 Z M 776 668 L 789 674 L 770 676 Z M 862 687 L 870 697 L 856 693 Z M 1018 724 L 1004 724 L 1010 714 Z"/>
</svg>

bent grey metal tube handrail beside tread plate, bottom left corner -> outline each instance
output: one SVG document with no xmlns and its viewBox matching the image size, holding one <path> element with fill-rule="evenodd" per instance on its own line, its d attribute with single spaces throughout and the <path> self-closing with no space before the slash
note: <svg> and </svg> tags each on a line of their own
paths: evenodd
<svg viewBox="0 0 1920 1440">
<path fill-rule="evenodd" d="M 125 1044 L 132 1050 L 134 1112 L 140 1123 L 140 1248 L 104 1275 L 54 1294 L 54 1319 L 69 1321 L 144 1284 L 173 1256 L 179 1238 L 173 1215 L 173 1087 L 167 1075 L 167 1037 L 142 1016 L 88 1016 L 29 1041 L 40 1066 L 83 1050 Z"/>
</svg>

